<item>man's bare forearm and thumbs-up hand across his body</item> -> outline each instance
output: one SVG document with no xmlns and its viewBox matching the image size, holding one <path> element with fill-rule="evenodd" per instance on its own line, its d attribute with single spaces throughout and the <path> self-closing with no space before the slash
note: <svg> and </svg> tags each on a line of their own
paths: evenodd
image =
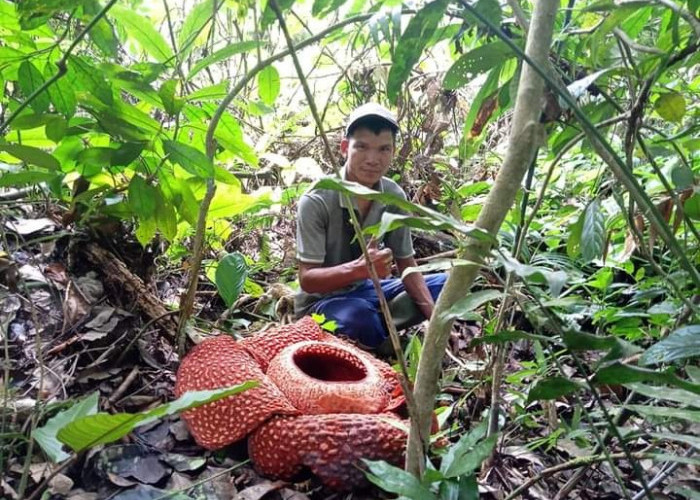
<svg viewBox="0 0 700 500">
<path fill-rule="evenodd" d="M 379 277 L 389 276 L 393 260 L 391 250 L 388 248 L 382 250 L 368 248 L 367 252 L 370 260 L 374 262 L 374 267 Z M 332 267 L 299 262 L 299 285 L 306 293 L 334 292 L 356 281 L 367 279 L 369 276 L 369 269 L 364 256 Z"/>
</svg>

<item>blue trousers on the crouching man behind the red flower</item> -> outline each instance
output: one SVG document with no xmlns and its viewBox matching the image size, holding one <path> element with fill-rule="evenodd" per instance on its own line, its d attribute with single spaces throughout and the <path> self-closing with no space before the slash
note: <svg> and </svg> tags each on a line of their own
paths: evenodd
<svg viewBox="0 0 700 500">
<path fill-rule="evenodd" d="M 437 300 L 446 280 L 445 273 L 425 276 L 433 300 Z M 381 280 L 380 283 L 387 301 L 406 291 L 398 278 Z M 335 320 L 337 333 L 367 347 L 378 347 L 389 336 L 371 280 L 365 280 L 359 287 L 345 294 L 319 300 L 314 304 L 312 312 L 323 314 L 327 320 Z"/>
</svg>

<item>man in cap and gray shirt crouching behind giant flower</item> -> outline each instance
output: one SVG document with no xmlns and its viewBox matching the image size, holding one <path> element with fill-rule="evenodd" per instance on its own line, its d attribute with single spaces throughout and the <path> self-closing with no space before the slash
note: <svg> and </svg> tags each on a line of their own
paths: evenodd
<svg viewBox="0 0 700 500">
<path fill-rule="evenodd" d="M 353 111 L 340 143 L 345 157 L 342 178 L 405 199 L 403 190 L 384 177 L 394 157 L 398 130 L 394 115 L 378 104 L 365 104 Z M 362 228 L 377 224 L 384 212 L 400 212 L 379 201 L 356 197 L 352 198 L 352 207 Z M 337 333 L 376 348 L 389 334 L 367 263 L 355 239 L 349 209 L 344 197 L 333 190 L 312 189 L 299 200 L 297 259 L 302 291 L 295 297 L 295 312 L 297 316 L 323 314 L 336 321 Z M 399 276 L 404 269 L 416 265 L 407 227 L 387 233 L 383 241 L 372 240 L 368 253 L 380 278 L 391 276 L 394 261 Z M 444 274 L 424 278 L 417 272 L 403 280 L 382 279 L 382 290 L 395 313 L 397 327 L 430 318 L 445 279 Z"/>
</svg>

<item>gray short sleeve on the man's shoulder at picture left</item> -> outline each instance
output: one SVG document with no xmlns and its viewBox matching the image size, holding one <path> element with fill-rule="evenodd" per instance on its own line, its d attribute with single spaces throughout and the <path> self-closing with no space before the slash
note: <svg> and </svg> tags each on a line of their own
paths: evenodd
<svg viewBox="0 0 700 500">
<path fill-rule="evenodd" d="M 326 259 L 328 211 L 323 201 L 304 194 L 297 206 L 297 259 L 309 264 L 323 264 Z"/>
</svg>

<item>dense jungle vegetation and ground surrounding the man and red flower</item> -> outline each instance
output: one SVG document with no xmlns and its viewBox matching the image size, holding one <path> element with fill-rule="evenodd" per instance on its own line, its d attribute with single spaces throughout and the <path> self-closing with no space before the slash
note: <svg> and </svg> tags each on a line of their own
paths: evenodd
<svg viewBox="0 0 700 500">
<path fill-rule="evenodd" d="M 0 0 L 0 496 L 700 498 L 699 14 Z M 375 230 L 450 270 L 387 358 L 441 427 L 342 496 L 197 448 L 178 412 L 231 392 L 172 389 L 289 319 L 296 200 L 368 101 L 410 199 Z"/>
</svg>

